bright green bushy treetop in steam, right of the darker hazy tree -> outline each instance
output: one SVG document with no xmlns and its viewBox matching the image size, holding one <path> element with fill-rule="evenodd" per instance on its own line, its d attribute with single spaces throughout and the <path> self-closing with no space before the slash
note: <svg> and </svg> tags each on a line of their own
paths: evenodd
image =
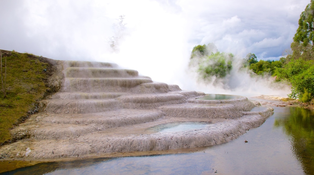
<svg viewBox="0 0 314 175">
<path fill-rule="evenodd" d="M 199 65 L 198 71 L 203 75 L 203 78 L 211 76 L 223 78 L 232 69 L 233 57 L 232 54 L 225 54 L 223 52 L 212 53 Z"/>
</svg>

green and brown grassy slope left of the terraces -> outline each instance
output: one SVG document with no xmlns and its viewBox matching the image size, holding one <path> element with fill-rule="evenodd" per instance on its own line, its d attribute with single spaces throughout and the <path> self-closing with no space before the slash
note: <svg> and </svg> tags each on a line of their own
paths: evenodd
<svg viewBox="0 0 314 175">
<path fill-rule="evenodd" d="M 51 65 L 42 57 L 28 53 L 0 50 L 7 57 L 6 97 L 0 92 L 0 144 L 11 140 L 9 130 L 34 109 L 37 100 L 44 97 L 48 87 L 45 81 Z M 45 71 L 46 69 L 46 71 Z"/>
</svg>

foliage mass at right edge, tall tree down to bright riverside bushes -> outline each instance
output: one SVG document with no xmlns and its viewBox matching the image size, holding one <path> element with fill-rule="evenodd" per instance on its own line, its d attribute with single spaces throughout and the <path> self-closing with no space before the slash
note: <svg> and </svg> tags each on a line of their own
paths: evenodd
<svg viewBox="0 0 314 175">
<path fill-rule="evenodd" d="M 308 102 L 314 95 L 314 2 L 306 6 L 300 14 L 291 52 L 281 59 L 283 66 L 275 70 L 277 80 L 287 80 L 291 83 L 291 98 L 299 98 Z"/>
</svg>

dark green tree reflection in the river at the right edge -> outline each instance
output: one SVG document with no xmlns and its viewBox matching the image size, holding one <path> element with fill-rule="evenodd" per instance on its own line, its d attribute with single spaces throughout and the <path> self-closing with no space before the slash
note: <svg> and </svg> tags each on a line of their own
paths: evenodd
<svg viewBox="0 0 314 175">
<path fill-rule="evenodd" d="M 314 174 L 314 110 L 290 108 L 290 116 L 275 119 L 290 136 L 291 149 L 306 174 Z"/>
</svg>

